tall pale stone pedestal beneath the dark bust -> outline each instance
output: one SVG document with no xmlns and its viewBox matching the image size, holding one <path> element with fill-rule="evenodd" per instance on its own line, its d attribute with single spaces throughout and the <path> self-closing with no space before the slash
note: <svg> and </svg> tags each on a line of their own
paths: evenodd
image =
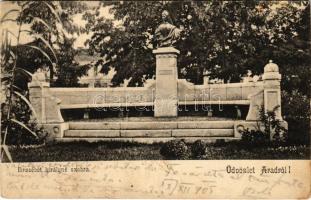
<svg viewBox="0 0 311 200">
<path fill-rule="evenodd" d="M 158 48 L 156 55 L 155 117 L 177 117 L 177 55 L 173 47 Z"/>
</svg>

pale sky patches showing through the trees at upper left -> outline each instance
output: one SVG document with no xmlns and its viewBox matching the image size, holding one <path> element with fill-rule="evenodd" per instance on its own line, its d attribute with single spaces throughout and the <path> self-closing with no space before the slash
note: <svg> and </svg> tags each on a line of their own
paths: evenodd
<svg viewBox="0 0 311 200">
<path fill-rule="evenodd" d="M 87 5 L 90 7 L 90 10 L 98 5 L 97 1 L 89 1 L 89 2 L 85 2 L 85 3 L 87 3 Z M 7 13 L 11 9 L 19 9 L 19 7 L 16 4 L 9 2 L 9 1 L 0 2 L 0 18 L 2 19 L 2 17 L 5 15 L 5 13 Z M 17 14 L 18 14 L 17 12 L 11 12 L 10 14 L 8 14 L 6 16 L 6 18 L 15 19 Z M 73 15 L 72 17 L 73 17 L 74 23 L 83 27 L 86 24 L 86 21 L 82 20 L 82 15 L 83 14 L 76 14 L 76 15 Z M 100 15 L 105 16 L 107 18 L 113 18 L 113 15 L 109 13 L 108 7 L 101 7 L 100 8 Z M 17 33 L 18 33 L 18 25 L 12 21 L 6 21 L 6 22 L 1 24 L 1 32 L 2 32 L 2 30 L 5 30 L 5 29 L 8 29 L 9 31 L 11 31 L 15 35 L 17 35 Z M 30 26 L 25 24 L 25 25 L 23 25 L 22 29 L 29 30 Z M 77 38 L 75 41 L 74 47 L 75 48 L 84 47 L 84 42 L 88 38 L 90 38 L 91 35 L 92 35 L 92 33 L 89 33 L 89 34 L 85 33 L 85 34 L 81 34 L 79 36 L 74 35 Z M 2 37 L 2 33 L 1 33 L 1 37 Z M 32 38 L 28 35 L 27 32 L 23 32 L 21 34 L 21 37 L 20 37 L 20 43 L 21 44 L 25 44 L 25 43 L 28 43 L 31 41 L 32 41 Z M 12 45 L 16 44 L 16 39 L 14 39 L 13 36 L 11 36 L 11 42 L 12 42 Z"/>
</svg>

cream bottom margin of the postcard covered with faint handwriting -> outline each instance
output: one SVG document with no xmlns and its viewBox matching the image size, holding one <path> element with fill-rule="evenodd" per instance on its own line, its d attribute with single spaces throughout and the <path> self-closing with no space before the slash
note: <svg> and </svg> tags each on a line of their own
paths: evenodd
<svg viewBox="0 0 311 200">
<path fill-rule="evenodd" d="M 228 173 L 226 161 L 3 164 L 3 191 L 7 197 L 29 198 L 277 198 L 279 194 L 302 197 L 299 195 L 309 192 L 309 176 L 299 173 L 308 163 L 295 161 L 299 165 L 296 170 L 292 167 L 291 173 L 261 173 L 248 166 L 258 162 L 259 169 L 275 169 L 275 163 L 230 162 L 249 173 Z"/>
</svg>

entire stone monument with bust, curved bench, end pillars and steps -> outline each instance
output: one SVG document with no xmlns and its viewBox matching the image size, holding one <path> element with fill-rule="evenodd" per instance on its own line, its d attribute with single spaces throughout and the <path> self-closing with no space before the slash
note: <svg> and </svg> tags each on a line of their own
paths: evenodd
<svg viewBox="0 0 311 200">
<path fill-rule="evenodd" d="M 49 133 L 49 138 L 56 141 L 138 141 L 163 142 L 174 138 L 184 138 L 192 141 L 199 137 L 215 140 L 231 140 L 241 138 L 244 129 L 258 130 L 261 123 L 261 109 L 276 111 L 276 118 L 281 126 L 287 128 L 287 123 L 281 114 L 281 74 L 279 68 L 272 61 L 264 68 L 262 81 L 259 77 L 248 77 L 242 83 L 194 85 L 186 79 L 178 79 L 177 56 L 179 50 L 174 48 L 180 37 L 180 30 L 169 19 L 169 13 L 163 11 L 163 22 L 155 31 L 157 49 L 153 51 L 156 57 L 156 79 L 144 87 L 119 88 L 53 88 L 49 86 L 46 76 L 42 72 L 34 74 L 32 82 L 28 84 L 29 100 L 38 113 L 38 123 L 43 125 Z M 135 98 L 129 98 L 131 95 Z M 97 102 L 98 97 L 103 100 Z M 107 98 L 106 98 L 107 97 Z M 137 100 L 139 97 L 139 100 Z M 236 109 L 236 119 L 207 120 L 195 117 L 193 120 L 178 117 L 178 105 L 208 106 L 207 116 L 215 118 L 217 113 L 211 109 L 212 105 L 231 105 Z M 72 121 L 62 116 L 61 111 L 79 109 L 84 111 L 84 119 L 92 118 L 88 115 L 91 109 L 122 108 L 119 112 L 123 118 L 124 109 L 153 107 L 154 117 L 134 121 L 105 120 L 98 122 Z M 246 118 L 242 116 L 240 106 L 248 107 Z M 141 112 L 142 113 L 142 112 Z M 103 112 L 103 114 L 106 114 Z M 203 113 L 205 114 L 205 113 Z M 245 113 L 246 114 L 246 113 Z M 109 115 L 109 113 L 107 113 Z M 127 112 L 128 115 L 128 112 Z M 168 119 L 172 118 L 172 119 Z M 144 121 L 146 120 L 146 121 Z M 149 121 L 150 120 L 150 121 Z M 275 130 L 271 130 L 273 138 Z M 217 139 L 216 139 L 217 140 Z"/>
</svg>

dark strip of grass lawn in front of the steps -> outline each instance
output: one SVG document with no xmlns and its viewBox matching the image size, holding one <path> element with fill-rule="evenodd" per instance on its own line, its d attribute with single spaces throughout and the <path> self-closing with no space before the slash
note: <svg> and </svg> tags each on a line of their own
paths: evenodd
<svg viewBox="0 0 311 200">
<path fill-rule="evenodd" d="M 44 146 L 10 147 L 14 162 L 95 161 L 95 160 L 163 160 L 163 144 L 128 142 L 71 142 Z M 187 159 L 310 159 L 310 147 L 286 145 L 244 148 L 238 142 L 208 144 L 199 158 Z M 6 161 L 6 160 L 4 160 Z"/>
</svg>

